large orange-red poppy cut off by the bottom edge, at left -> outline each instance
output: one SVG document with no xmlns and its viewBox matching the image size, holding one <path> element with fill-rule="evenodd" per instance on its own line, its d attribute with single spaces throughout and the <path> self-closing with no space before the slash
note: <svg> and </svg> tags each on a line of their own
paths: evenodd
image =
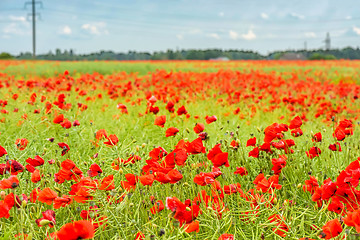
<svg viewBox="0 0 360 240">
<path fill-rule="evenodd" d="M 95 235 L 95 228 L 90 221 L 80 220 L 67 223 L 56 232 L 59 240 L 90 239 Z"/>
</svg>

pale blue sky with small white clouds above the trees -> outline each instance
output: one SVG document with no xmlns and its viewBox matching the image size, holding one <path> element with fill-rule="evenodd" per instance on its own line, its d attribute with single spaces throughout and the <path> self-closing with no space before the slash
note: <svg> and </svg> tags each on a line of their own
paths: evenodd
<svg viewBox="0 0 360 240">
<path fill-rule="evenodd" d="M 32 51 L 31 7 L 0 0 L 0 52 Z M 358 0 L 42 0 L 37 53 L 360 47 Z"/>
</svg>

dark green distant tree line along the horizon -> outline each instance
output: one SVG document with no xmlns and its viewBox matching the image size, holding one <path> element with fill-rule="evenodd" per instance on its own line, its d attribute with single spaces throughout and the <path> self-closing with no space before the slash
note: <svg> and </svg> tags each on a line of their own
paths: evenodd
<svg viewBox="0 0 360 240">
<path fill-rule="evenodd" d="M 222 50 L 222 49 L 190 49 L 190 50 L 167 50 L 158 52 L 135 52 L 129 51 L 127 53 L 116 53 L 113 51 L 100 51 L 90 54 L 75 54 L 72 49 L 61 51 L 56 49 L 55 52 L 37 55 L 37 59 L 41 60 L 60 60 L 60 61 L 79 61 L 79 60 L 261 60 L 261 59 L 282 59 L 286 53 L 301 54 L 306 59 L 360 59 L 360 49 L 346 47 L 343 49 L 331 50 L 287 50 L 275 51 L 268 55 L 261 55 L 254 51 L 245 50 Z M 30 52 L 20 53 L 19 56 L 11 56 L 8 53 L 1 53 L 0 59 L 32 59 Z"/>
</svg>

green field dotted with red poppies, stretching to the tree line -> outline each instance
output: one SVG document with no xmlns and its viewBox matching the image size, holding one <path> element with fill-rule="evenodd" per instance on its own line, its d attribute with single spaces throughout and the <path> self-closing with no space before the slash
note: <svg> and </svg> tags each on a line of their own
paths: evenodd
<svg viewBox="0 0 360 240">
<path fill-rule="evenodd" d="M 357 239 L 359 61 L 0 61 L 0 239 Z"/>
</svg>

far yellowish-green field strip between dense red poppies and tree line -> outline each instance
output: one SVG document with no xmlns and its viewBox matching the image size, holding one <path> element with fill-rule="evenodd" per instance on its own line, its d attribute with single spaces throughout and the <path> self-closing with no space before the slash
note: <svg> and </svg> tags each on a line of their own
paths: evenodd
<svg viewBox="0 0 360 240">
<path fill-rule="evenodd" d="M 331 80 L 359 79 L 360 61 L 0 61 L 2 71 L 16 77 L 51 77 L 68 70 L 71 74 L 93 73 L 102 75 L 115 72 L 138 73 L 144 75 L 157 69 L 182 72 L 216 72 L 218 70 L 264 71 L 284 74 L 302 74 Z"/>
</svg>

